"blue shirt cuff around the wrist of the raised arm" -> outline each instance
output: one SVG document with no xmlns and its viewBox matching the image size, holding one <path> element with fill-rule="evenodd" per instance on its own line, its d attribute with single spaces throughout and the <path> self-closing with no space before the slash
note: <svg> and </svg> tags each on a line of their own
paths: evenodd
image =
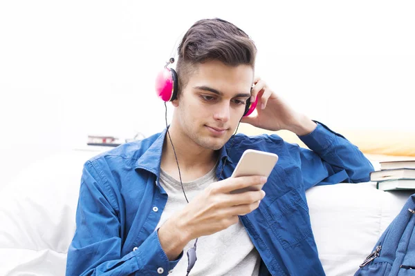
<svg viewBox="0 0 415 276">
<path fill-rule="evenodd" d="M 314 122 L 317 124 L 317 127 L 311 133 L 299 136 L 299 139 L 311 150 L 323 152 L 333 144 L 336 137 L 344 138 L 344 136 L 334 132 L 319 121 Z"/>
</svg>

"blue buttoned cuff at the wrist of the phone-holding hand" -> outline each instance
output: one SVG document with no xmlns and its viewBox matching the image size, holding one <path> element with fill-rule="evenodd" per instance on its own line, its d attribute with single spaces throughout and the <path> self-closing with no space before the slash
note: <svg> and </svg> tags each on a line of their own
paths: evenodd
<svg viewBox="0 0 415 276">
<path fill-rule="evenodd" d="M 157 230 L 151 233 L 133 253 L 136 255 L 139 271 L 149 275 L 167 275 L 183 257 L 182 251 L 176 260 L 169 261 L 161 247 Z"/>
</svg>

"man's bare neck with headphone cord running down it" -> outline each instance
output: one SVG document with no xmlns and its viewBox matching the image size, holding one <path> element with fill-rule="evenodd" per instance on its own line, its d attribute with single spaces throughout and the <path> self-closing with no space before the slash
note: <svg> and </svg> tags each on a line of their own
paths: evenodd
<svg viewBox="0 0 415 276">
<path fill-rule="evenodd" d="M 170 142 L 169 134 L 174 149 Z M 189 137 L 181 135 L 181 132 L 172 123 L 169 126 L 169 133 L 166 133 L 160 166 L 169 175 L 175 179 L 179 179 L 174 151 L 176 152 L 183 181 L 192 181 L 212 170 L 219 155 L 218 150 L 203 148 Z"/>
</svg>

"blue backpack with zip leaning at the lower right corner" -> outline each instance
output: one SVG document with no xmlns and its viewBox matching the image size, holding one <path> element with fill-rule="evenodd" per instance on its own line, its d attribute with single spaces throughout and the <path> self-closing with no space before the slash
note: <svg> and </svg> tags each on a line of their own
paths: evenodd
<svg viewBox="0 0 415 276">
<path fill-rule="evenodd" d="M 355 276 L 415 276 L 415 194 L 382 234 Z"/>
</svg>

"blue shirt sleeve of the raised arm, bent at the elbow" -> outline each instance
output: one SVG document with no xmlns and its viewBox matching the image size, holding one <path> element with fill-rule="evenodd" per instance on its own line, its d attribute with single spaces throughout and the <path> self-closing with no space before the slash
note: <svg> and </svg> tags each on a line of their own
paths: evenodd
<svg viewBox="0 0 415 276">
<path fill-rule="evenodd" d="M 313 132 L 299 136 L 310 148 L 300 149 L 304 188 L 369 181 L 369 174 L 374 167 L 358 147 L 324 124 L 315 123 L 317 127 Z M 321 175 L 326 177 L 320 179 Z"/>
</svg>

